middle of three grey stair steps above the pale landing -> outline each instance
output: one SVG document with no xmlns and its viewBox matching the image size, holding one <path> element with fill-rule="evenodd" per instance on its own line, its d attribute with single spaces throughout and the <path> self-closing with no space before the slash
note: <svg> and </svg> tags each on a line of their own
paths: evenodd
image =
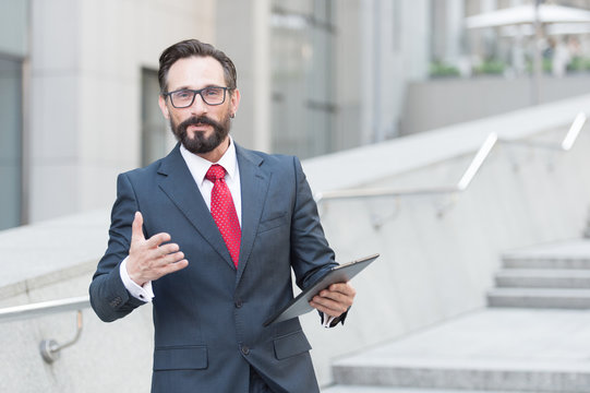
<svg viewBox="0 0 590 393">
<path fill-rule="evenodd" d="M 590 288 L 590 270 L 579 269 L 504 269 L 496 274 L 496 285 L 504 288 Z"/>
</svg>

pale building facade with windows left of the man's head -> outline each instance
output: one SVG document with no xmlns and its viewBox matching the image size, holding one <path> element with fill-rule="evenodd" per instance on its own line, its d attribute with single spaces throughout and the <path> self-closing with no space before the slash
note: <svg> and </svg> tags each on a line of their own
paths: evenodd
<svg viewBox="0 0 590 393">
<path fill-rule="evenodd" d="M 3 0 L 0 20 L 0 228 L 112 203 L 173 145 L 153 135 L 159 53 L 215 39 L 213 0 Z"/>
</svg>

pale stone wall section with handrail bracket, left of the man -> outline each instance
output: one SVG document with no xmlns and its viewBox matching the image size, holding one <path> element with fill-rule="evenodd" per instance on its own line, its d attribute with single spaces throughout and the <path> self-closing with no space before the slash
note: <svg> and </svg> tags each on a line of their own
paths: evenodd
<svg viewBox="0 0 590 393">
<path fill-rule="evenodd" d="M 0 307 L 83 296 L 106 249 L 107 210 L 4 230 L 0 235 Z M 150 307 L 117 324 L 83 311 L 80 341 L 47 365 L 43 340 L 65 343 L 75 312 L 0 323 L 0 379 L 7 392 L 148 392 L 153 353 Z"/>
</svg>

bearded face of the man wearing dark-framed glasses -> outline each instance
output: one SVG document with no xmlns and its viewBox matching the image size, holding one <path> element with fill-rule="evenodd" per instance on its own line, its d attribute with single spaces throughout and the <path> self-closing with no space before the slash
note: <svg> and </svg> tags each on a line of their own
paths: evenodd
<svg viewBox="0 0 590 393">
<path fill-rule="evenodd" d="M 168 92 L 181 88 L 201 90 L 204 87 L 225 87 L 224 68 L 212 57 L 190 57 L 180 59 L 168 71 Z M 170 121 L 174 136 L 194 154 L 206 154 L 227 140 L 231 126 L 230 115 L 236 114 L 240 93 L 226 92 L 221 105 L 207 105 L 201 95 L 186 108 L 174 108 L 170 97 L 160 96 L 159 105 L 164 116 Z"/>
</svg>

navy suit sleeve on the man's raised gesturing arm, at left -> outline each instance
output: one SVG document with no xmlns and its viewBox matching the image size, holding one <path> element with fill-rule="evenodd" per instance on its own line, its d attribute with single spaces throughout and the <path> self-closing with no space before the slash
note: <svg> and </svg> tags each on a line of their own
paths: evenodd
<svg viewBox="0 0 590 393">
<path fill-rule="evenodd" d="M 98 262 L 89 287 L 91 305 L 103 321 L 123 318 L 144 305 L 125 289 L 119 274 L 119 265 L 129 254 L 131 225 L 140 210 L 133 187 L 125 174 L 117 179 L 117 201 L 112 206 L 109 243 Z"/>
</svg>

